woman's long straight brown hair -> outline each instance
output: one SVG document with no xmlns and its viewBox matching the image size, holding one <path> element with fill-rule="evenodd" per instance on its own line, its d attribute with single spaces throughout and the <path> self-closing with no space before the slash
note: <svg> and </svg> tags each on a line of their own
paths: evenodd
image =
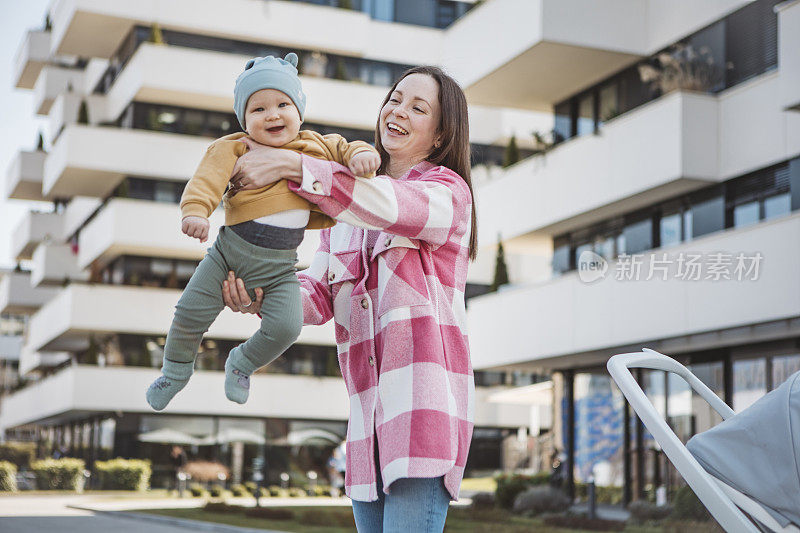
<svg viewBox="0 0 800 533">
<path fill-rule="evenodd" d="M 475 215 L 475 195 L 472 192 L 472 178 L 470 176 L 470 148 L 469 148 L 469 120 L 467 111 L 467 98 L 458 82 L 444 73 L 439 67 L 421 66 L 408 69 L 400 76 L 383 99 L 381 109 L 389 101 L 392 93 L 403 78 L 411 74 L 425 74 L 430 76 L 439 85 L 439 128 L 441 145 L 433 148 L 427 160 L 434 165 L 447 167 L 467 183 L 469 194 L 472 196 L 472 224 L 469 234 L 469 258 L 475 259 L 478 253 L 478 218 Z M 375 127 L 375 148 L 381 156 L 379 173 L 386 171 L 389 163 L 389 154 L 381 143 L 380 114 Z"/>
</svg>

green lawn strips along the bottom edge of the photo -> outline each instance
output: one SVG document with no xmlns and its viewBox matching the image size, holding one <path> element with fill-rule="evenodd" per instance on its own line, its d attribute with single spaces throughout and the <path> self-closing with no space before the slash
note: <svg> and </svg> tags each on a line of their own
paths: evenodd
<svg viewBox="0 0 800 533">
<path fill-rule="evenodd" d="M 349 507 L 292 507 L 294 518 L 290 520 L 268 520 L 248 518 L 230 512 L 209 512 L 203 509 L 159 509 L 139 511 L 149 514 L 172 516 L 190 520 L 215 522 L 231 526 L 254 529 L 273 529 L 303 533 L 352 533 L 355 531 L 353 512 Z M 696 533 L 721 532 L 713 523 L 676 523 L 663 526 L 630 526 L 629 533 Z M 582 531 L 546 526 L 541 519 L 516 516 L 503 510 L 474 511 L 469 508 L 451 507 L 447 515 L 447 533 L 566 533 Z"/>
</svg>

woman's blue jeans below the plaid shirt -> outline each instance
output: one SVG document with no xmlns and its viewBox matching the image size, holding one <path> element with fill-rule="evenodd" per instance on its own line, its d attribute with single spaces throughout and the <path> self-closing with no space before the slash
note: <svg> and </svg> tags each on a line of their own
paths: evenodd
<svg viewBox="0 0 800 533">
<path fill-rule="evenodd" d="M 376 461 L 377 463 L 377 461 Z M 353 516 L 359 533 L 441 533 L 450 506 L 444 478 L 401 478 L 383 493 L 380 467 L 378 500 L 353 500 Z"/>
</svg>

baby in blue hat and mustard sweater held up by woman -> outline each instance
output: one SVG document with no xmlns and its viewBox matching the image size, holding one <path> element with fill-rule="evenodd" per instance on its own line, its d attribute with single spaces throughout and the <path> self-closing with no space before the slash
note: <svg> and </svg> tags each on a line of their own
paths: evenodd
<svg viewBox="0 0 800 533">
<path fill-rule="evenodd" d="M 264 289 L 261 327 L 231 350 L 225 362 L 225 395 L 237 403 L 247 401 L 250 375 L 300 335 L 302 307 L 294 266 L 303 232 L 335 224 L 289 191 L 286 180 L 238 194 L 228 190 L 223 197 L 236 160 L 247 151 L 239 139 L 247 136 L 266 146 L 337 161 L 355 174 L 372 174 L 380 165 L 378 153 L 365 142 L 348 143 L 339 135 L 300 131 L 306 97 L 295 54 L 248 61 L 236 80 L 233 108 L 247 133 L 214 141 L 181 198 L 181 229 L 186 235 L 201 242 L 208 238 L 208 217 L 220 198 L 225 225 L 175 306 L 162 375 L 147 389 L 147 402 L 157 411 L 188 383 L 203 334 L 224 307 L 222 282 L 230 270 L 244 280 L 248 290 Z"/>
</svg>

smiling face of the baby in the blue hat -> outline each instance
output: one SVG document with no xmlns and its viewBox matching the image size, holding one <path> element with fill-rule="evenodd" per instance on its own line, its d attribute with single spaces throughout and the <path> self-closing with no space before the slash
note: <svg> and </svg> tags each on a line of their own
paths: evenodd
<svg viewBox="0 0 800 533">
<path fill-rule="evenodd" d="M 297 137 L 301 123 L 297 106 L 282 91 L 261 89 L 247 100 L 244 125 L 259 144 L 283 146 Z"/>
</svg>

